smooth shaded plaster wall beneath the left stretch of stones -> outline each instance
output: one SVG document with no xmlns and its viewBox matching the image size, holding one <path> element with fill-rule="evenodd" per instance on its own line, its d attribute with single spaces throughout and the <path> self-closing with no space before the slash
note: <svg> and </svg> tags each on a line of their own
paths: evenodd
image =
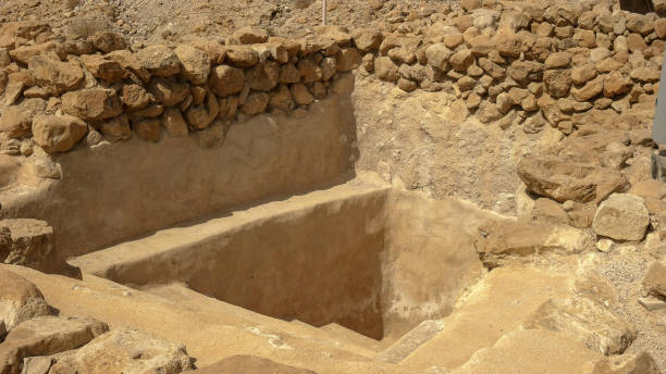
<svg viewBox="0 0 666 374">
<path fill-rule="evenodd" d="M 350 91 L 312 103 L 305 117 L 264 114 L 153 144 L 136 137 L 60 154 L 62 179 L 21 199 L 1 197 L 0 217 L 47 221 L 62 257 L 79 255 L 217 211 L 306 192 L 354 176 L 358 153 Z M 215 133 L 217 132 L 217 133 Z M 219 140 L 219 139 L 218 139 Z"/>
</svg>

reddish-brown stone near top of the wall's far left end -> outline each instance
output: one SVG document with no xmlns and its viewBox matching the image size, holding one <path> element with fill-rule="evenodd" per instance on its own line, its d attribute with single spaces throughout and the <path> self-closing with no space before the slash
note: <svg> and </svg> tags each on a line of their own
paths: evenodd
<svg viewBox="0 0 666 374">
<path fill-rule="evenodd" d="M 55 96 L 75 89 L 84 80 L 84 72 L 76 62 L 62 62 L 36 55 L 30 59 L 28 68 L 35 84 Z"/>
</svg>

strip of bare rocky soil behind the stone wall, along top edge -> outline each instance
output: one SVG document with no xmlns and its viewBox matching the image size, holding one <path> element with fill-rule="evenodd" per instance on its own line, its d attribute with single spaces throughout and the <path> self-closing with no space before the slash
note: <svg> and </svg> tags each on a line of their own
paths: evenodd
<svg viewBox="0 0 666 374">
<path fill-rule="evenodd" d="M 390 28 L 406 18 L 424 18 L 456 7 L 454 1 L 440 0 L 328 0 L 328 22 Z M 8 0 L 0 4 L 0 20 L 48 20 L 76 35 L 110 29 L 141 46 L 192 35 L 220 38 L 244 26 L 259 26 L 279 36 L 305 36 L 321 24 L 321 1 L 314 0 Z"/>
</svg>

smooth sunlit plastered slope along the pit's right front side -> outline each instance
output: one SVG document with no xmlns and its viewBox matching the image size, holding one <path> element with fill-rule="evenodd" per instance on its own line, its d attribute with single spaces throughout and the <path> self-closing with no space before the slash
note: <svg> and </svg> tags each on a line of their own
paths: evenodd
<svg viewBox="0 0 666 374">
<path fill-rule="evenodd" d="M 495 269 L 442 321 L 443 329 L 400 363 L 456 369 L 474 352 L 518 329 L 545 301 L 569 296 L 568 282 L 565 275 L 522 266 Z"/>
</svg>

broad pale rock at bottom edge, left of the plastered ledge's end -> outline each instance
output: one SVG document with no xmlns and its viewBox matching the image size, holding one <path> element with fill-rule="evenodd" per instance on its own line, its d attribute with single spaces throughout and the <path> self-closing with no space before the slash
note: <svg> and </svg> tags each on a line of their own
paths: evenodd
<svg viewBox="0 0 666 374">
<path fill-rule="evenodd" d="M 192 369 L 193 360 L 185 347 L 138 331 L 119 328 L 60 356 L 49 374 L 178 374 Z"/>
</svg>

